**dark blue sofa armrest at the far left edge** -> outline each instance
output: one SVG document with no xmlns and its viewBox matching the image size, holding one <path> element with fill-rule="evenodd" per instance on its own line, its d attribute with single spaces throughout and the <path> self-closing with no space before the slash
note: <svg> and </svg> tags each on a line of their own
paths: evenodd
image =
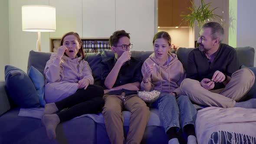
<svg viewBox="0 0 256 144">
<path fill-rule="evenodd" d="M 7 95 L 7 89 L 4 81 L 0 81 L 0 115 L 10 110 L 11 105 Z"/>
</svg>

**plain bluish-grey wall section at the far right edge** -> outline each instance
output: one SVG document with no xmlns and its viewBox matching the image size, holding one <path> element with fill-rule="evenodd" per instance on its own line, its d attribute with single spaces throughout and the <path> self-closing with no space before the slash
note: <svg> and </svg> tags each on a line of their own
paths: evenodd
<svg viewBox="0 0 256 144">
<path fill-rule="evenodd" d="M 255 6 L 256 0 L 237 0 L 237 47 L 251 46 L 256 49 Z"/>
</svg>

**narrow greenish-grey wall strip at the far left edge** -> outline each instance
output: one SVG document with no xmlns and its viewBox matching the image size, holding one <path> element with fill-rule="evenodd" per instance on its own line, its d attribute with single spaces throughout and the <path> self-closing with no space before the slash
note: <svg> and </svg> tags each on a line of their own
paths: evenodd
<svg viewBox="0 0 256 144">
<path fill-rule="evenodd" d="M 4 80 L 4 66 L 10 64 L 8 0 L 0 0 L 0 81 Z"/>
</svg>

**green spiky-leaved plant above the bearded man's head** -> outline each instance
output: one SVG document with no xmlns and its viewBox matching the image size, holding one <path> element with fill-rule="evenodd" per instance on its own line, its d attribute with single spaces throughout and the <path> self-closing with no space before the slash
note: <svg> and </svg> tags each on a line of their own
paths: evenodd
<svg viewBox="0 0 256 144">
<path fill-rule="evenodd" d="M 216 10 L 217 7 L 214 9 L 210 7 L 212 2 L 205 4 L 204 1 L 201 0 L 201 5 L 199 7 L 196 7 L 193 1 L 190 0 L 190 2 L 192 6 L 187 9 L 189 9 L 191 13 L 181 15 L 184 16 L 182 22 L 187 21 L 190 28 L 193 29 L 195 20 L 197 20 L 199 28 L 201 28 L 207 20 L 222 20 L 222 16 L 214 13 L 214 10 Z"/>
</svg>

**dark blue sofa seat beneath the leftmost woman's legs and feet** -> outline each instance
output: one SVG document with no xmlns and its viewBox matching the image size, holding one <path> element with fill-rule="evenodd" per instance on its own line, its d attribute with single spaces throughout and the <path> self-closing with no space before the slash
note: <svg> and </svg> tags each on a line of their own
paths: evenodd
<svg viewBox="0 0 256 144">
<path fill-rule="evenodd" d="M 59 124 L 56 140 L 50 141 L 40 119 L 19 117 L 14 108 L 0 117 L 0 144 L 95 144 L 96 126 L 83 117 Z"/>
</svg>

